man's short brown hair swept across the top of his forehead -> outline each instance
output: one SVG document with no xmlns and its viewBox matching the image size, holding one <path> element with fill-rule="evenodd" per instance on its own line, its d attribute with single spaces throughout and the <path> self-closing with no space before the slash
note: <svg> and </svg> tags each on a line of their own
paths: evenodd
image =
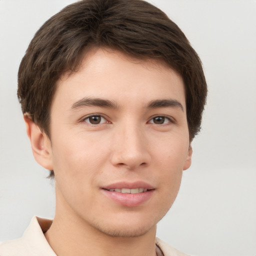
<svg viewBox="0 0 256 256">
<path fill-rule="evenodd" d="M 81 0 L 48 19 L 35 33 L 18 70 L 23 113 L 50 137 L 56 82 L 75 71 L 90 47 L 164 61 L 183 78 L 190 141 L 200 129 L 207 87 L 200 59 L 179 27 L 143 0 Z"/>
</svg>

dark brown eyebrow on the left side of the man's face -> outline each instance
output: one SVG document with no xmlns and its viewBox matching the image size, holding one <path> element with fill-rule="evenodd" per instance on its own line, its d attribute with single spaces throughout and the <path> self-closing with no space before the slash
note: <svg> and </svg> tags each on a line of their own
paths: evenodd
<svg viewBox="0 0 256 256">
<path fill-rule="evenodd" d="M 71 106 L 71 110 L 82 107 L 82 106 L 100 106 L 100 107 L 107 107 L 107 108 L 118 107 L 116 102 L 110 101 L 108 99 L 84 97 L 74 102 Z"/>
</svg>

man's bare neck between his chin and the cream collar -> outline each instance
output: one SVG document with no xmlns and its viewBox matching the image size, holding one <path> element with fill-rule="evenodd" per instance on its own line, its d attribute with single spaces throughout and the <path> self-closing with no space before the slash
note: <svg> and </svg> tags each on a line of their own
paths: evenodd
<svg viewBox="0 0 256 256">
<path fill-rule="evenodd" d="M 62 212 L 68 211 L 60 209 L 56 202 L 54 220 L 45 233 L 45 238 L 58 256 L 156 255 L 156 225 L 140 236 L 119 237 L 101 232 L 75 214 L 63 214 Z"/>
</svg>

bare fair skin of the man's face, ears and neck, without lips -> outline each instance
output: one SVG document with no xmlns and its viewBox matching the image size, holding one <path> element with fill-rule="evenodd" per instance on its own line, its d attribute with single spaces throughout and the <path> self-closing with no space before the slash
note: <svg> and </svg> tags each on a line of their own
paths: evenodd
<svg viewBox="0 0 256 256">
<path fill-rule="evenodd" d="M 170 67 L 92 49 L 57 83 L 50 139 L 24 115 L 35 159 L 55 173 L 56 212 L 45 237 L 57 255 L 155 255 L 156 223 L 191 163 L 184 95 Z M 114 107 L 84 105 L 84 98 Z M 163 99 L 180 105 L 148 106 Z M 143 203 L 125 206 L 102 189 L 119 181 L 154 189 Z"/>
</svg>

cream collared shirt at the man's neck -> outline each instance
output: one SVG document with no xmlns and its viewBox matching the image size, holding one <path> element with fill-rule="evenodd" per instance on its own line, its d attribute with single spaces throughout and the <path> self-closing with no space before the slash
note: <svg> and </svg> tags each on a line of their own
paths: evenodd
<svg viewBox="0 0 256 256">
<path fill-rule="evenodd" d="M 0 243 L 0 256 L 57 256 L 44 236 L 51 223 L 50 219 L 34 216 L 20 238 Z M 155 244 L 157 256 L 188 256 L 159 238 Z"/>
</svg>

